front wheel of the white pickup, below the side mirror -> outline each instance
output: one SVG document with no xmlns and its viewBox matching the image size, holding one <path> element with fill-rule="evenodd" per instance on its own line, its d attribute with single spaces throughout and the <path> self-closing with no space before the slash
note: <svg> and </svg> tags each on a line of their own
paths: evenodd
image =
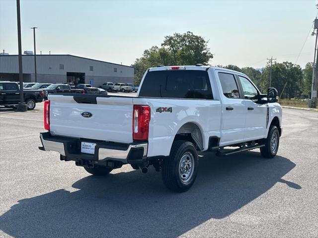
<svg viewBox="0 0 318 238">
<path fill-rule="evenodd" d="M 264 142 L 265 146 L 260 148 L 261 155 L 265 158 L 274 158 L 279 146 L 279 131 L 275 125 L 269 127 L 268 135 Z"/>
</svg>

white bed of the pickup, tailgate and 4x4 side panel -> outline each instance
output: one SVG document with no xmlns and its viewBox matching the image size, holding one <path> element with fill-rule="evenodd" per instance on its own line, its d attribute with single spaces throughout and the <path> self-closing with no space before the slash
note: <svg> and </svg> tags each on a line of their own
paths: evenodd
<svg viewBox="0 0 318 238">
<path fill-rule="evenodd" d="M 157 145 L 172 143 L 178 129 L 187 122 L 197 124 L 209 136 L 220 135 L 219 100 L 87 94 L 52 94 L 49 100 L 52 135 L 119 143 L 133 142 L 133 105 L 148 105 L 151 108 L 148 156 L 168 155 L 168 146 Z M 171 108 L 171 112 L 159 112 L 159 108 Z M 92 116 L 83 117 L 85 112 Z M 204 149 L 208 143 L 204 141 Z"/>
</svg>

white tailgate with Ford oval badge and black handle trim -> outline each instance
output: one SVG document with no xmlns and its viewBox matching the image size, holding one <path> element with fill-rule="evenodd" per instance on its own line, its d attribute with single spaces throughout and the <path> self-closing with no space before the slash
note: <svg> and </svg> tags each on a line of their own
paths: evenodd
<svg viewBox="0 0 318 238">
<path fill-rule="evenodd" d="M 49 95 L 49 100 L 52 135 L 133 142 L 133 98 Z"/>
</svg>

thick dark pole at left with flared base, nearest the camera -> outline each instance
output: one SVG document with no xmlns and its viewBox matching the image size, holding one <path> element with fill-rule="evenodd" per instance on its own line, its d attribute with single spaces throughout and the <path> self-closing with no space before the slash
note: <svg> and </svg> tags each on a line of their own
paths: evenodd
<svg viewBox="0 0 318 238">
<path fill-rule="evenodd" d="M 21 21 L 20 21 L 20 0 L 16 0 L 16 18 L 18 27 L 18 52 L 19 52 L 19 81 L 20 81 L 20 103 L 17 111 L 26 112 L 27 107 L 23 98 L 23 73 L 22 73 L 22 46 L 21 46 Z"/>
</svg>

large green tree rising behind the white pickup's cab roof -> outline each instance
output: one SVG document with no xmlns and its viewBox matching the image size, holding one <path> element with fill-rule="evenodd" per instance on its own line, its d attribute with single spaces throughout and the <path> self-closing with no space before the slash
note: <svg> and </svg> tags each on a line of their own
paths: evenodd
<svg viewBox="0 0 318 238">
<path fill-rule="evenodd" d="M 141 58 L 136 59 L 132 66 L 135 68 L 135 83 L 139 84 L 147 68 L 163 65 L 208 65 L 213 58 L 208 41 L 192 32 L 174 33 L 165 36 L 161 47 L 153 46 L 145 50 Z"/>
</svg>

